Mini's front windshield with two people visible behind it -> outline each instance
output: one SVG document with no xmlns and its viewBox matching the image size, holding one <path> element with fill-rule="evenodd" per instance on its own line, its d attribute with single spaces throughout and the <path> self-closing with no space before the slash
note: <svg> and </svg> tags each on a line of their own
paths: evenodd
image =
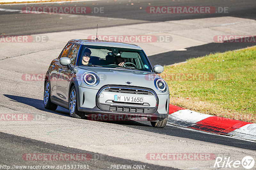
<svg viewBox="0 0 256 170">
<path fill-rule="evenodd" d="M 123 65 L 118 65 L 123 63 Z M 122 68 L 152 72 L 151 66 L 142 50 L 83 46 L 78 66 Z"/>
</svg>

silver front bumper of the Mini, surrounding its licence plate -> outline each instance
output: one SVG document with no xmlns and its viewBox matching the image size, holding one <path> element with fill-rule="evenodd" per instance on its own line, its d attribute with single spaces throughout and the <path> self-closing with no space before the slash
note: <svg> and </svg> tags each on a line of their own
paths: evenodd
<svg viewBox="0 0 256 170">
<path fill-rule="evenodd" d="M 169 94 L 157 95 L 154 90 L 148 88 L 106 85 L 97 90 L 79 87 L 79 94 L 78 110 L 86 113 L 147 117 L 152 121 L 168 116 Z M 116 94 L 144 97 L 145 103 L 115 103 L 113 97 Z"/>
</svg>

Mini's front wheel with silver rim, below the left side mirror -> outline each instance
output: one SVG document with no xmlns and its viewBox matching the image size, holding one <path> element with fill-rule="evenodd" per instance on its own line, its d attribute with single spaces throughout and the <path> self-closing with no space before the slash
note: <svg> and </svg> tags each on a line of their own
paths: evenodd
<svg viewBox="0 0 256 170">
<path fill-rule="evenodd" d="M 74 98 L 75 97 L 75 98 Z M 73 86 L 70 89 L 69 97 L 68 97 L 68 105 L 69 105 L 69 114 L 71 117 L 83 119 L 85 114 L 77 110 L 77 95 L 76 95 L 76 88 Z"/>
</svg>

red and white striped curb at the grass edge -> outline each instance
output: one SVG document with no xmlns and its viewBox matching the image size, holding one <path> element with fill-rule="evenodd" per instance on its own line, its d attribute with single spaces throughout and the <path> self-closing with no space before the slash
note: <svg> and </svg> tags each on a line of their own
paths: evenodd
<svg viewBox="0 0 256 170">
<path fill-rule="evenodd" d="M 168 124 L 235 138 L 256 140 L 256 124 L 206 115 L 169 104 Z"/>
</svg>

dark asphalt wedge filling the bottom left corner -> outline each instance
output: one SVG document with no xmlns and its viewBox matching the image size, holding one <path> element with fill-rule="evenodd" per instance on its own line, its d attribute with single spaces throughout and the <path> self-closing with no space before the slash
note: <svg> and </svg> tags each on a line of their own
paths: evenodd
<svg viewBox="0 0 256 170">
<path fill-rule="evenodd" d="M 116 157 L 111 157 L 103 154 L 98 154 L 94 152 L 83 151 L 80 149 L 65 147 L 61 145 L 54 145 L 51 143 L 46 143 L 38 140 L 33 140 L 29 138 L 24 138 L 20 136 L 15 136 L 7 133 L 0 132 L 0 165 L 22 165 L 22 166 L 55 166 L 58 165 L 88 165 L 89 169 L 109 169 L 111 165 L 140 165 L 145 167 L 145 169 L 163 169 L 163 170 L 176 170 L 171 167 L 157 166 L 153 164 L 147 164 L 138 161 L 132 161 L 128 159 L 121 159 Z M 24 153 L 78 153 L 88 155 L 89 160 L 60 160 L 51 161 L 51 164 L 47 160 L 26 160 L 22 155 Z M 13 154 L 15 153 L 15 154 Z M 7 155 L 8 158 L 6 157 Z M 22 158 L 22 159 L 21 159 Z M 24 160 L 25 159 L 25 160 Z M 109 168 L 108 168 L 109 167 Z M 3 169 L 3 168 L 1 168 Z M 18 168 L 17 168 L 18 169 Z M 25 169 L 25 168 L 19 168 Z M 56 168 L 55 168 L 56 169 Z M 61 169 L 61 168 L 60 168 Z M 133 169 L 133 168 L 132 168 Z"/>
</svg>

